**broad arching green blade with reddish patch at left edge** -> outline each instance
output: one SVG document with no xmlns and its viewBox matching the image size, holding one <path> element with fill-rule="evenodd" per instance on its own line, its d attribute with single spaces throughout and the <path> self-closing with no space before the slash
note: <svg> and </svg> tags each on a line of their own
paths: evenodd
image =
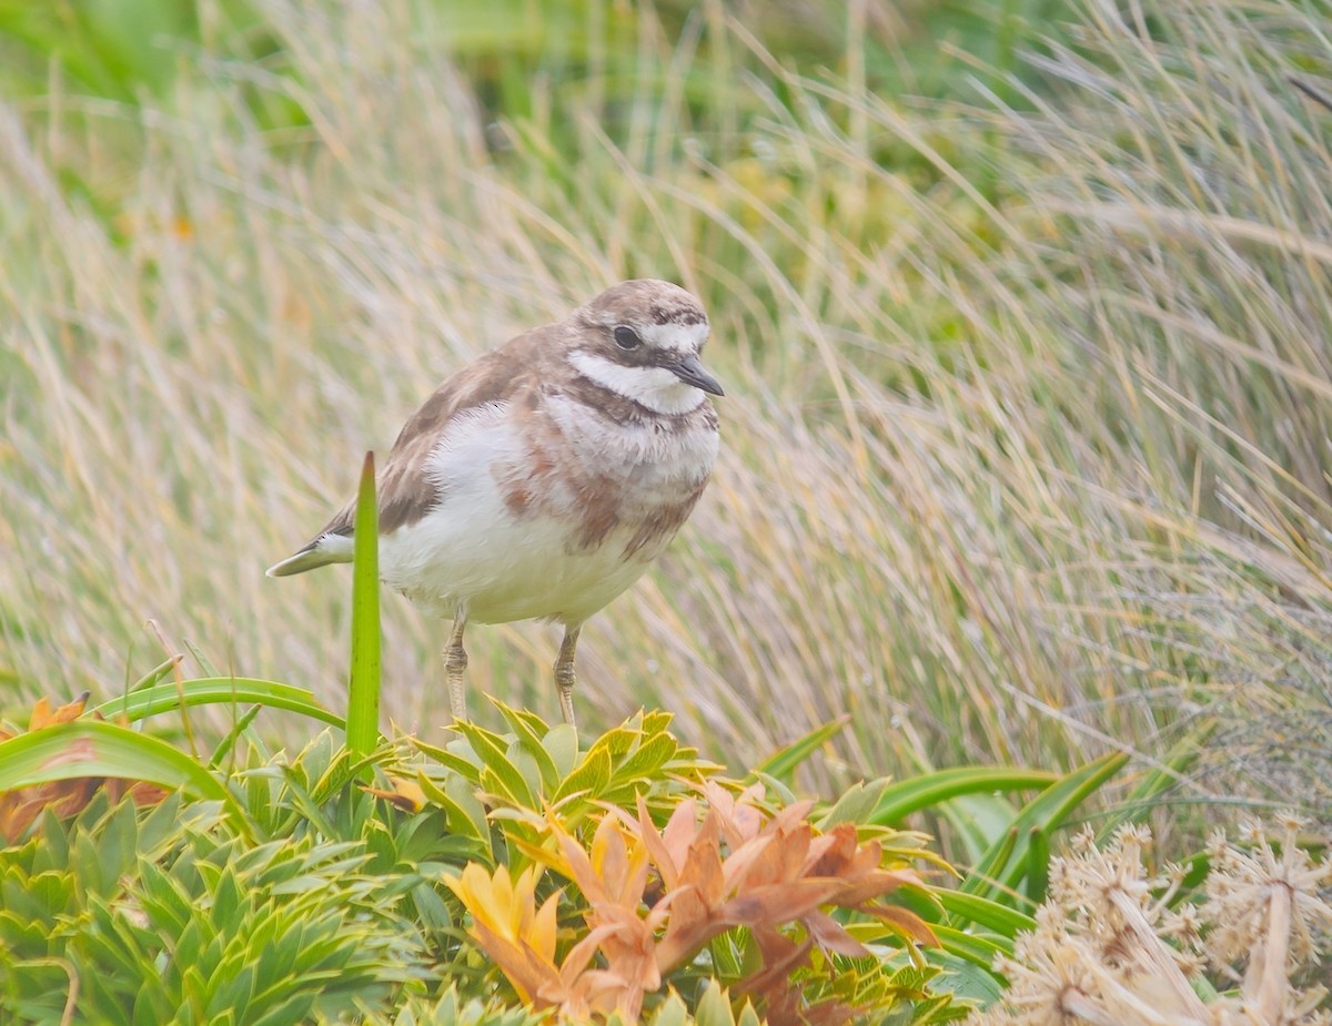
<svg viewBox="0 0 1332 1026">
<path fill-rule="evenodd" d="M 217 777 L 161 739 L 113 723 L 76 720 L 0 741 L 0 792 L 79 777 L 117 777 L 220 801 L 246 833 L 236 798 Z"/>
</svg>

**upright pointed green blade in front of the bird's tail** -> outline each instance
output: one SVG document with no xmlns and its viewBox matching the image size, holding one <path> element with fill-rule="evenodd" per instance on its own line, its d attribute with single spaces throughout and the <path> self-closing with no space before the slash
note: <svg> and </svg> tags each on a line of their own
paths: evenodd
<svg viewBox="0 0 1332 1026">
<path fill-rule="evenodd" d="M 380 744 L 380 512 L 374 498 L 374 452 L 365 454 L 361 468 L 354 543 L 346 747 L 369 755 Z"/>
</svg>

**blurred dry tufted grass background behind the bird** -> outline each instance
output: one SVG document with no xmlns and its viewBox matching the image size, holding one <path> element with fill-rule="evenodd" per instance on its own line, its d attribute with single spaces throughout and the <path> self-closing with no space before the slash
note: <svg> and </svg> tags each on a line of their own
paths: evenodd
<svg viewBox="0 0 1332 1026">
<path fill-rule="evenodd" d="M 746 767 L 850 715 L 836 777 L 1207 724 L 1183 798 L 1332 818 L 1329 28 L 0 3 L 0 707 L 188 639 L 341 708 L 348 575 L 262 568 L 465 361 L 655 275 L 710 310 L 723 455 L 589 624 L 587 727 Z M 386 600 L 398 724 L 448 721 L 445 640 Z M 551 631 L 469 640 L 554 709 Z"/>
</svg>

